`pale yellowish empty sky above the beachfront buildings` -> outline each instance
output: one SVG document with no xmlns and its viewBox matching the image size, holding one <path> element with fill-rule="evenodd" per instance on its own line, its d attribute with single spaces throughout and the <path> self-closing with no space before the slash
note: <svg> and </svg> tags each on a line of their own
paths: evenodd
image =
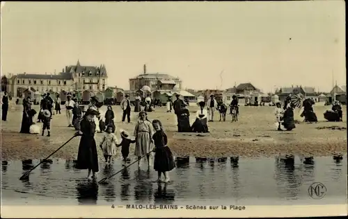
<svg viewBox="0 0 348 219">
<path fill-rule="evenodd" d="M 168 73 L 189 89 L 345 85 L 345 2 L 6 2 L 1 74 L 105 64 L 108 85 Z"/>
</svg>

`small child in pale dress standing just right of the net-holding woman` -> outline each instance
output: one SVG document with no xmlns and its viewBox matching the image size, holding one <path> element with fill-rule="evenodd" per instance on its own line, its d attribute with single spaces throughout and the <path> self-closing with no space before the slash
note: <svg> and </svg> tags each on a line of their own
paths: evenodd
<svg viewBox="0 0 348 219">
<path fill-rule="evenodd" d="M 115 134 L 113 134 L 113 125 L 108 125 L 103 140 L 100 143 L 100 148 L 102 148 L 105 162 L 108 164 L 111 164 L 111 157 L 116 155 L 116 145 L 117 139 Z"/>
</svg>

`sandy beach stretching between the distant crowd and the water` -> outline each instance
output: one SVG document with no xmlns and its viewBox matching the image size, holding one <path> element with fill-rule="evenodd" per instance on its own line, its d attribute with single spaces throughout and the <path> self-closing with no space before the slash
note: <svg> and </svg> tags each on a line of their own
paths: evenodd
<svg viewBox="0 0 348 219">
<path fill-rule="evenodd" d="M 35 106 L 35 109 L 38 106 Z M 166 134 L 168 146 L 175 156 L 235 156 L 242 157 L 270 157 L 278 154 L 325 156 L 347 152 L 347 123 L 346 107 L 343 107 L 343 122 L 333 123 L 324 120 L 324 111 L 329 106 L 315 106 L 318 123 L 296 124 L 290 132 L 278 132 L 275 128 L 274 107 L 240 107 L 237 123 L 219 121 L 219 114 L 214 122 L 209 122 L 210 133 L 177 133 L 175 114 L 167 113 L 166 107 L 157 107 L 155 112 L 148 113 L 148 119 L 159 119 Z M 102 108 L 105 112 L 105 107 Z M 191 123 L 198 107 L 189 107 Z M 120 106 L 113 106 L 116 114 L 116 136 L 120 138 L 119 129 L 133 133 L 137 113 L 132 112 L 132 123 L 120 123 L 122 112 Z M 8 121 L 1 124 L 1 159 L 42 159 L 56 150 L 74 134 L 73 128 L 67 127 L 65 110 L 62 114 L 54 115 L 52 119 L 52 137 L 41 137 L 41 134 L 20 134 L 22 106 L 8 112 Z M 303 121 L 299 116 L 299 109 L 295 111 L 295 119 Z M 42 123 L 38 123 L 42 125 Z M 338 127 L 340 129 L 335 129 Z M 96 134 L 97 146 L 103 134 Z M 72 139 L 53 157 L 76 159 L 79 147 L 79 137 Z M 102 159 L 102 151 L 97 148 Z M 130 148 L 133 156 L 134 144 Z M 120 156 L 120 150 L 118 155 Z"/>
</svg>

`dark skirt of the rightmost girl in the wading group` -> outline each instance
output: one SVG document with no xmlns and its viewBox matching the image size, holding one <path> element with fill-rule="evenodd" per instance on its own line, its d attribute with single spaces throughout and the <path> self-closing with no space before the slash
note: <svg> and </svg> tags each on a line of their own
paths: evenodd
<svg viewBox="0 0 348 219">
<path fill-rule="evenodd" d="M 167 172 L 175 168 L 173 154 L 168 146 L 156 148 L 154 168 L 159 172 Z"/>
</svg>

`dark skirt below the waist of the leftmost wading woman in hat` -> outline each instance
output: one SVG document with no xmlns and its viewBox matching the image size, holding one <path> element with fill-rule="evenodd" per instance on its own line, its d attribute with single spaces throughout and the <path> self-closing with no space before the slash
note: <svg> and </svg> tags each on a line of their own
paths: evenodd
<svg viewBox="0 0 348 219">
<path fill-rule="evenodd" d="M 94 137 L 81 136 L 77 168 L 80 170 L 91 169 L 94 172 L 99 171 L 97 145 Z"/>
</svg>

